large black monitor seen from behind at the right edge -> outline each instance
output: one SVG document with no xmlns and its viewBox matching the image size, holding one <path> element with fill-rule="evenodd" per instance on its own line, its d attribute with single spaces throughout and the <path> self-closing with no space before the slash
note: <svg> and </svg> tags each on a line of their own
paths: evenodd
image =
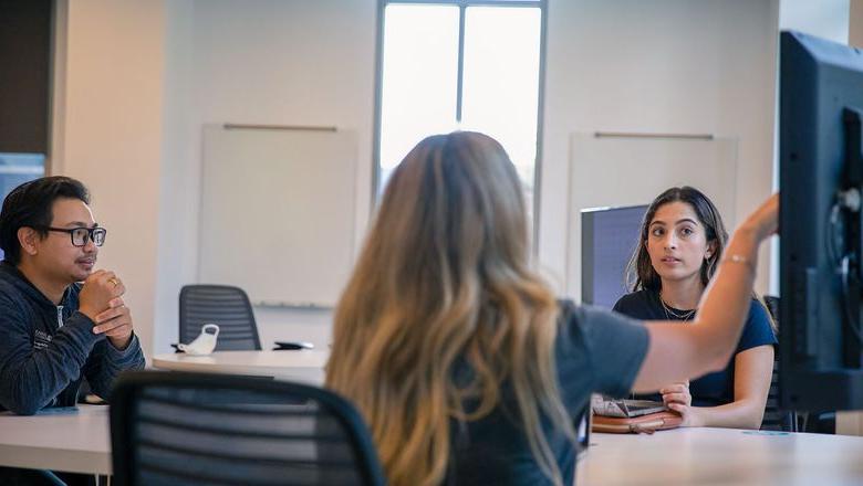
<svg viewBox="0 0 863 486">
<path fill-rule="evenodd" d="M 863 409 L 863 51 L 782 32 L 780 406 Z"/>
</svg>

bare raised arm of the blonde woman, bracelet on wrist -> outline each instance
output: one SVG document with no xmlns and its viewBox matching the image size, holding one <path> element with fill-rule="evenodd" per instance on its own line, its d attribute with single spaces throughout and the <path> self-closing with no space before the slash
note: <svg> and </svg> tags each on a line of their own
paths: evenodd
<svg viewBox="0 0 863 486">
<path fill-rule="evenodd" d="M 646 323 L 649 346 L 633 390 L 656 391 L 725 368 L 749 310 L 758 246 L 776 233 L 778 213 L 779 194 L 773 194 L 735 231 L 692 325 Z"/>
</svg>

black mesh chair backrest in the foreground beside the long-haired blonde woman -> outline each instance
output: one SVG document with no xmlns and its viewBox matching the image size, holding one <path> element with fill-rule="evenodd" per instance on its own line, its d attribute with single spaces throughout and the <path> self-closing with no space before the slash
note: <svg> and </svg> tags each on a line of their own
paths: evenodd
<svg viewBox="0 0 863 486">
<path fill-rule="evenodd" d="M 354 406 L 299 383 L 124 373 L 112 394 L 111 442 L 121 486 L 384 484 Z"/>
</svg>

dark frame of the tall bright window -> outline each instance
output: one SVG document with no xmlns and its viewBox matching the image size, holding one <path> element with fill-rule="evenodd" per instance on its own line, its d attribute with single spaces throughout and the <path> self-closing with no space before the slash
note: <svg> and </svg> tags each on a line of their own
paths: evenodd
<svg viewBox="0 0 863 486">
<path fill-rule="evenodd" d="M 540 225 L 540 187 L 542 183 L 542 134 L 543 114 L 545 105 L 545 35 L 548 27 L 548 0 L 378 0 L 377 1 L 377 39 L 375 47 L 375 114 L 374 136 L 372 144 L 372 198 L 371 211 L 374 212 L 379 198 L 381 181 L 381 124 L 383 117 L 383 78 L 384 78 L 384 15 L 389 4 L 433 4 L 453 6 L 459 8 L 458 25 L 458 68 L 456 80 L 456 120 L 461 120 L 462 84 L 465 63 L 465 17 L 469 7 L 508 7 L 508 8 L 537 8 L 540 10 L 540 52 L 539 52 L 539 86 L 537 97 L 537 155 L 533 165 L 533 197 L 532 205 L 532 252 L 538 255 L 539 225 Z"/>
</svg>

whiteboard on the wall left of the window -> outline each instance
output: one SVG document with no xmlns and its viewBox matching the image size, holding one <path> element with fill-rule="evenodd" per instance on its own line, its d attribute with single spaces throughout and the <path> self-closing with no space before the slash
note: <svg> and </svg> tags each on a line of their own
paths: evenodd
<svg viewBox="0 0 863 486">
<path fill-rule="evenodd" d="M 356 135 L 204 127 L 198 282 L 332 307 L 353 264 Z"/>
</svg>

